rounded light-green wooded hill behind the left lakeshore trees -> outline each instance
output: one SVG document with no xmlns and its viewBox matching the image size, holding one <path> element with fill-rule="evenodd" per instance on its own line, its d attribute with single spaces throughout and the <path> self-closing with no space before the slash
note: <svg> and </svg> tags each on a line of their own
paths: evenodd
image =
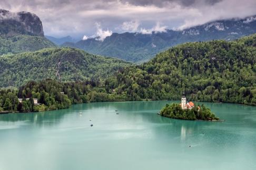
<svg viewBox="0 0 256 170">
<path fill-rule="evenodd" d="M 131 63 L 91 55 L 73 48 L 47 48 L 0 56 L 0 87 L 21 86 L 29 80 L 101 80 Z"/>
</svg>

